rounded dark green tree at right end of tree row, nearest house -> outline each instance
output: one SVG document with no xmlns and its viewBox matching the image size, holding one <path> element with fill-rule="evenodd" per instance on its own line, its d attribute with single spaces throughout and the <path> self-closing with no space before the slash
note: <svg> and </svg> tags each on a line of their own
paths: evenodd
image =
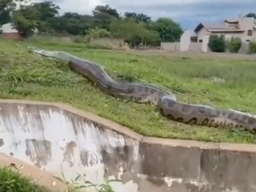
<svg viewBox="0 0 256 192">
<path fill-rule="evenodd" d="M 155 30 L 165 42 L 175 42 L 180 40 L 183 33 L 180 24 L 169 18 L 159 18 L 156 20 Z"/>
</svg>

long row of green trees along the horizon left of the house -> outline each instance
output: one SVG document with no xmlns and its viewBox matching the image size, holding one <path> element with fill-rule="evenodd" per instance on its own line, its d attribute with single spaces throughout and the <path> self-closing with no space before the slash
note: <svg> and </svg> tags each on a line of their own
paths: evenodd
<svg viewBox="0 0 256 192">
<path fill-rule="evenodd" d="M 11 22 L 24 36 L 33 34 L 35 29 L 39 33 L 70 35 L 86 35 L 100 30 L 104 34 L 110 33 L 111 37 L 124 38 L 126 42 L 137 45 L 179 41 L 183 33 L 180 24 L 172 19 L 152 20 L 144 13 L 135 12 L 125 12 L 122 16 L 108 4 L 95 6 L 92 15 L 75 12 L 59 15 L 60 7 L 52 1 L 30 3 L 17 9 L 17 2 L 21 1 L 1 0 L 0 25 Z"/>
</svg>

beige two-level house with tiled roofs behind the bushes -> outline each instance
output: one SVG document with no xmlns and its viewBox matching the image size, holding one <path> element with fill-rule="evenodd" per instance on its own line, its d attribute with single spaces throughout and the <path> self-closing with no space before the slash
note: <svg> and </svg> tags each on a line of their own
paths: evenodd
<svg viewBox="0 0 256 192">
<path fill-rule="evenodd" d="M 250 17 L 227 19 L 219 24 L 199 23 L 195 29 L 186 30 L 180 38 L 180 51 L 202 51 L 203 41 L 208 43 L 210 35 L 224 35 L 240 37 L 249 42 L 256 38 L 256 20 Z"/>
</svg>

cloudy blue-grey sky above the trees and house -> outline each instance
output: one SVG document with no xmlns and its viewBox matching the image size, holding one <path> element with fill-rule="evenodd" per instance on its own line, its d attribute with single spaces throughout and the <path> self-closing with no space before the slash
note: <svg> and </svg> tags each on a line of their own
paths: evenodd
<svg viewBox="0 0 256 192">
<path fill-rule="evenodd" d="M 32 0 L 32 2 L 40 0 Z M 109 4 L 118 12 L 137 12 L 151 16 L 170 17 L 182 28 L 195 28 L 199 22 L 218 22 L 238 14 L 256 12 L 256 0 L 53 0 L 62 12 L 91 14 L 98 4 Z"/>
</svg>

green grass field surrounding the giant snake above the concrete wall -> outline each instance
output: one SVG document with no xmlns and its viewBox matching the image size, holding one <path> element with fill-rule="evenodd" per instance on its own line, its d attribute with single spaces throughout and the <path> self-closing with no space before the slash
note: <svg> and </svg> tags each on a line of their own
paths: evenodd
<svg viewBox="0 0 256 192">
<path fill-rule="evenodd" d="M 68 68 L 66 62 L 29 54 L 26 47 L 66 51 L 96 61 L 116 76 L 172 89 L 180 101 L 256 113 L 253 60 L 132 55 L 83 44 L 0 41 L 0 98 L 57 101 L 92 112 L 146 136 L 256 143 L 248 132 L 187 125 L 161 116 L 151 105 L 113 98 Z M 214 82 L 219 77 L 225 83 Z"/>
</svg>

